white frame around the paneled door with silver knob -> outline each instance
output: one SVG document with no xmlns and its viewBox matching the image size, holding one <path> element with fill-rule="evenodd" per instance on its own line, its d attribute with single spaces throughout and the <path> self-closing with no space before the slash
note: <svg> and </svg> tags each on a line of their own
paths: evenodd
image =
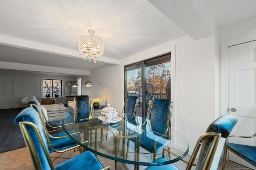
<svg viewBox="0 0 256 170">
<path fill-rule="evenodd" d="M 222 42 L 220 45 L 220 115 L 228 114 L 228 47 L 256 40 L 256 34 Z"/>
</svg>

